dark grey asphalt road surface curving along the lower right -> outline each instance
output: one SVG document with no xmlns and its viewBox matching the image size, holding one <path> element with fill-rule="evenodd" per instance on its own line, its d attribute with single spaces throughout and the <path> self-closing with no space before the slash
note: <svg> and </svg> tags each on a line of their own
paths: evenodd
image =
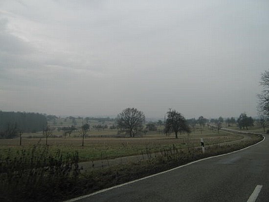
<svg viewBox="0 0 269 202">
<path fill-rule="evenodd" d="M 256 202 L 269 202 L 269 138 L 77 202 L 247 202 L 255 188 Z"/>
</svg>

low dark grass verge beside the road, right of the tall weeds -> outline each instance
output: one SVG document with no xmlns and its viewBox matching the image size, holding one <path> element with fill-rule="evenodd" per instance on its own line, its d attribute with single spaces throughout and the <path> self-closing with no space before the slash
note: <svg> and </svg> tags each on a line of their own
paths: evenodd
<svg viewBox="0 0 269 202">
<path fill-rule="evenodd" d="M 150 158 L 135 163 L 111 166 L 83 173 L 81 180 L 85 184 L 80 195 L 109 188 L 128 181 L 140 179 L 205 157 L 225 154 L 253 145 L 263 139 L 262 135 L 250 135 L 251 138 L 231 145 L 215 144 L 202 154 L 201 149 L 180 149 L 173 146 L 160 151 L 160 155 L 147 154 Z M 78 196 L 80 196 L 78 195 Z M 70 197 L 71 198 L 71 197 Z M 68 198 L 67 198 L 68 199 Z"/>
</svg>

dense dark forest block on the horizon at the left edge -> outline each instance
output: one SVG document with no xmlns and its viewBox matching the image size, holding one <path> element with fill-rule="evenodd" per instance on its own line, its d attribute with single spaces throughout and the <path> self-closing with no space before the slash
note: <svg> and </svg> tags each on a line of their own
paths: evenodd
<svg viewBox="0 0 269 202">
<path fill-rule="evenodd" d="M 0 137 L 13 138 L 19 132 L 43 131 L 47 119 L 44 114 L 0 111 Z"/>
</svg>

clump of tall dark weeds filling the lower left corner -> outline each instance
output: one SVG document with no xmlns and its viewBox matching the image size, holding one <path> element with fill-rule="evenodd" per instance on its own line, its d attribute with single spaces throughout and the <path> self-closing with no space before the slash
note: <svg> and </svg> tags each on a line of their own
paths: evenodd
<svg viewBox="0 0 269 202">
<path fill-rule="evenodd" d="M 0 156 L 0 201 L 57 201 L 76 191 L 78 153 L 34 145 Z"/>
</svg>

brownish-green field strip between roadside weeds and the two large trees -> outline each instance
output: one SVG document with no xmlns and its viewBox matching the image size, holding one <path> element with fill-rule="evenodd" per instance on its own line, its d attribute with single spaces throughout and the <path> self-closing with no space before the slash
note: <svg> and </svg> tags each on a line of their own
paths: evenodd
<svg viewBox="0 0 269 202">
<path fill-rule="evenodd" d="M 42 134 L 36 134 L 39 138 L 22 138 L 22 146 L 20 139 L 0 139 L 1 155 L 5 156 L 8 151 L 16 153 L 21 147 L 32 147 L 35 144 L 45 144 L 45 138 Z M 97 159 L 111 159 L 115 157 L 126 157 L 139 155 L 142 152 L 150 151 L 151 153 L 159 152 L 161 149 L 173 147 L 173 144 L 179 148 L 188 148 L 200 146 L 200 138 L 203 138 L 205 145 L 219 144 L 233 140 L 242 139 L 242 135 L 230 134 L 226 132 L 208 130 L 206 128 L 190 135 L 179 135 L 179 138 L 174 138 L 174 135 L 169 136 L 152 133 L 142 137 L 88 137 L 84 140 L 82 147 L 81 137 L 50 137 L 47 144 L 50 152 L 56 152 L 58 149 L 63 153 L 78 151 L 79 161 L 91 161 Z"/>
</svg>

